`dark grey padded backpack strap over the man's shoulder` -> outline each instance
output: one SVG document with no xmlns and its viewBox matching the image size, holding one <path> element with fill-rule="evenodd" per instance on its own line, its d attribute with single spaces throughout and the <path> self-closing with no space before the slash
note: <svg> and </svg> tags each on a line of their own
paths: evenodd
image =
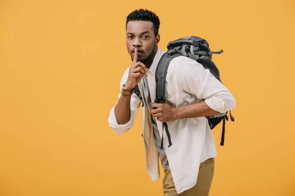
<svg viewBox="0 0 295 196">
<path fill-rule="evenodd" d="M 183 56 L 181 53 L 177 52 L 176 50 L 172 49 L 168 52 L 165 52 L 156 68 L 156 98 L 155 103 L 165 103 L 165 81 L 167 70 L 170 64 L 170 61 L 177 56 Z"/>
</svg>

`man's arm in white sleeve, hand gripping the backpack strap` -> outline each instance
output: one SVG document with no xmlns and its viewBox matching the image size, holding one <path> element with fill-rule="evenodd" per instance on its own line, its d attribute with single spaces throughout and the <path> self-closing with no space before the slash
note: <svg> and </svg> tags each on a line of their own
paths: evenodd
<svg viewBox="0 0 295 196">
<path fill-rule="evenodd" d="M 211 116 L 236 107 L 236 100 L 230 91 L 197 61 L 181 61 L 180 75 L 183 90 L 204 101 L 177 108 L 153 103 L 152 107 L 157 109 L 152 110 L 152 114 L 159 121 Z"/>
</svg>

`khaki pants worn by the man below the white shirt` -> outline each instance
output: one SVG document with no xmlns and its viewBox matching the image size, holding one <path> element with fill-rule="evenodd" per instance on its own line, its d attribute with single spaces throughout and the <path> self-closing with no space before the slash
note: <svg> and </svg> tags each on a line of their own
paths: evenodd
<svg viewBox="0 0 295 196">
<path fill-rule="evenodd" d="M 197 184 L 179 195 L 177 195 L 170 169 L 164 172 L 164 196 L 208 196 L 214 174 L 214 158 L 209 158 L 200 164 Z"/>
</svg>

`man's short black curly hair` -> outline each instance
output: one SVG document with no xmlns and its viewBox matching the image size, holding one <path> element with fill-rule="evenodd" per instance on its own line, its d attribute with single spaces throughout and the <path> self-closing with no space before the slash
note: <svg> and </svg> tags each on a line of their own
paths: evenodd
<svg viewBox="0 0 295 196">
<path fill-rule="evenodd" d="M 147 9 L 135 10 L 127 16 L 126 28 L 129 21 L 150 21 L 153 24 L 152 29 L 155 36 L 157 36 L 159 33 L 160 20 L 159 17 L 152 11 L 149 11 Z"/>
</svg>

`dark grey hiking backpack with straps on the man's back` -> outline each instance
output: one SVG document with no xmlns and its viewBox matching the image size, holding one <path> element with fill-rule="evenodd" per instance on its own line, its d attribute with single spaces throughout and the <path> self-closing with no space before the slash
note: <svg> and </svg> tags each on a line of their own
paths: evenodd
<svg viewBox="0 0 295 196">
<path fill-rule="evenodd" d="M 220 50 L 218 52 L 212 52 L 209 49 L 209 44 L 205 39 L 202 39 L 200 37 L 196 36 L 189 36 L 177 39 L 175 41 L 169 42 L 167 46 L 168 51 L 165 52 L 156 68 L 156 98 L 155 103 L 165 103 L 165 81 L 166 81 L 166 75 L 168 66 L 170 64 L 170 61 L 177 57 L 177 56 L 187 56 L 191 59 L 196 60 L 198 63 L 202 64 L 205 69 L 209 69 L 210 73 L 212 73 L 220 82 L 220 75 L 219 70 L 216 67 L 216 65 L 211 60 L 212 54 L 220 54 L 223 52 L 223 50 Z M 139 91 L 138 85 L 135 86 L 135 94 L 142 100 L 142 96 Z M 143 102 L 143 101 L 142 101 Z M 143 103 L 144 107 L 144 103 Z M 209 123 L 209 126 L 211 129 L 213 129 L 217 124 L 219 124 L 221 121 L 223 121 L 222 124 L 222 135 L 221 135 L 221 143 L 220 145 L 224 145 L 224 135 L 225 135 L 225 120 L 229 120 L 226 113 L 220 113 L 214 116 L 207 116 L 206 117 Z M 230 111 L 230 118 L 234 122 L 235 119 L 231 114 Z M 167 123 L 163 123 L 163 132 L 164 128 L 167 133 L 168 141 L 169 141 L 169 147 L 172 146 L 170 134 L 168 131 L 168 125 Z M 162 143 L 161 143 L 161 149 L 163 148 L 163 134 L 162 134 Z"/>
</svg>

